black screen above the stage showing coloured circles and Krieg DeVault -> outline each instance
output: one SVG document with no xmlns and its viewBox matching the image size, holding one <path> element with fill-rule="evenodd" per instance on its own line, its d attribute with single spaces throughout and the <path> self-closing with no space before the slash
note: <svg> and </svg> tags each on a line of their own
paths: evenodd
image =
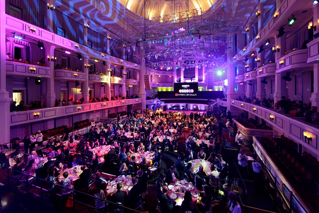
<svg viewBox="0 0 319 213">
<path fill-rule="evenodd" d="M 174 83 L 174 93 L 176 98 L 197 98 L 198 83 Z"/>
</svg>

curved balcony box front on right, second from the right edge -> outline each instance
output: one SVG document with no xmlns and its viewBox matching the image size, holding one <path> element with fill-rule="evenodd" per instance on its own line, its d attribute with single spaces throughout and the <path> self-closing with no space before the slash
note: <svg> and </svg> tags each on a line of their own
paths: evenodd
<svg viewBox="0 0 319 213">
<path fill-rule="evenodd" d="M 297 68 L 308 67 L 307 49 L 296 49 L 287 51 L 286 54 L 276 61 L 276 73 L 292 71 Z"/>
</svg>

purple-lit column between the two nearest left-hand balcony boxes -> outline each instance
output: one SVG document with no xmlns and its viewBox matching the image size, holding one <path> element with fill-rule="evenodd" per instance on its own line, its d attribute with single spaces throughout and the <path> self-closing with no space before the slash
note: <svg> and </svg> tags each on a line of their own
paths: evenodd
<svg viewBox="0 0 319 213">
<path fill-rule="evenodd" d="M 55 46 L 51 46 L 47 43 L 44 44 L 45 48 L 45 58 L 47 60 L 47 66 L 51 70 L 51 77 L 46 79 L 46 90 L 47 93 L 45 94 L 44 101 L 45 101 L 45 107 L 54 107 L 55 106 L 55 99 L 56 94 L 54 92 L 54 61 L 52 57 L 54 57 L 54 49 L 56 49 Z M 49 58 L 49 60 L 48 60 Z"/>
</svg>

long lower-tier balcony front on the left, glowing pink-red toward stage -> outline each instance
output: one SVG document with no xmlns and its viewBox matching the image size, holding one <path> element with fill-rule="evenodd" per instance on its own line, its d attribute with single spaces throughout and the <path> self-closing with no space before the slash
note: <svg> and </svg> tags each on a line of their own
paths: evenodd
<svg viewBox="0 0 319 213">
<path fill-rule="evenodd" d="M 84 103 L 84 104 L 76 104 L 76 105 L 68 105 L 62 107 L 51 107 L 51 108 L 42 108 L 42 109 L 34 109 L 27 111 L 16 111 L 10 112 L 11 123 L 10 126 L 37 122 L 41 120 L 58 118 L 62 116 L 69 116 L 73 114 L 90 112 L 93 110 L 103 110 L 110 107 L 116 107 L 121 105 L 128 105 L 134 103 L 141 103 L 141 98 L 135 99 L 123 99 L 116 101 L 106 101 L 106 102 L 94 102 L 94 103 Z"/>
</svg>

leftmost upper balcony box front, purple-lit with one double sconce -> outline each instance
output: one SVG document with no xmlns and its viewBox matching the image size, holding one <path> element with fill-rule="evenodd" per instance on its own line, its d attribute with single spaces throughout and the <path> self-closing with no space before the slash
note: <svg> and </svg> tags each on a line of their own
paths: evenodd
<svg viewBox="0 0 319 213">
<path fill-rule="evenodd" d="M 20 75 L 50 78 L 51 70 L 42 64 L 25 64 L 23 61 L 14 60 L 5 62 L 5 71 L 7 75 Z"/>
</svg>

